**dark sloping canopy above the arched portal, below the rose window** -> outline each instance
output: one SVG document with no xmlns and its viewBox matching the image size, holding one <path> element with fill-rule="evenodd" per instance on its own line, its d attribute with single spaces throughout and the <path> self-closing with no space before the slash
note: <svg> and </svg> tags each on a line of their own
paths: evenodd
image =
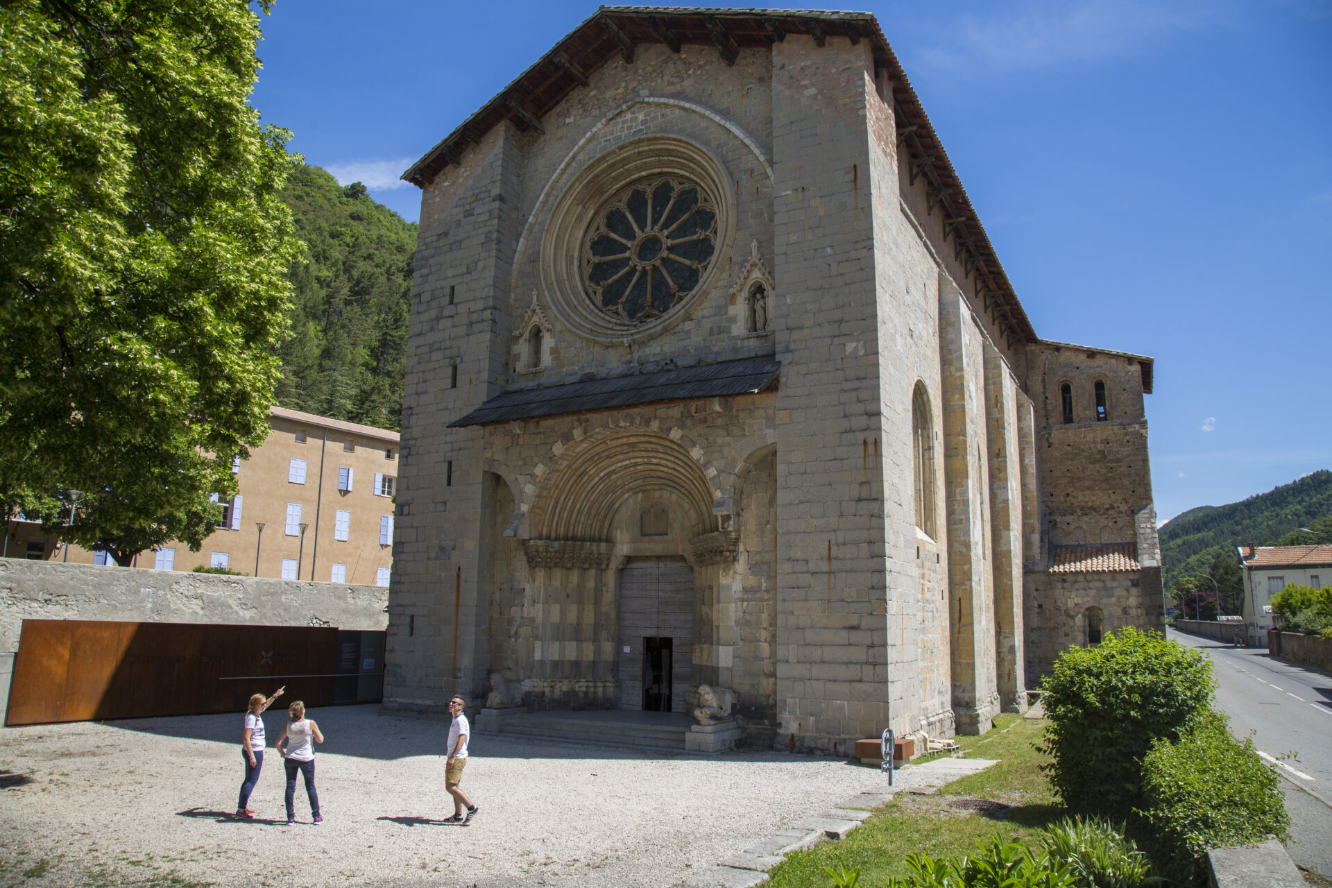
<svg viewBox="0 0 1332 888">
<path fill-rule="evenodd" d="M 697 401 L 777 389 L 781 361 L 770 357 L 718 361 L 609 379 L 505 391 L 450 422 L 449 427 L 485 426 L 510 419 L 558 417 L 589 410 L 614 410 L 665 401 Z"/>
</svg>

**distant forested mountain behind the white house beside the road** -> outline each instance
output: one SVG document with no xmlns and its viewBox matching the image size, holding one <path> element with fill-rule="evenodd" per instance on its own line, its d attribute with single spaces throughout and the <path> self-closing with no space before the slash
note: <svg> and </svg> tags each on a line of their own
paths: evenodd
<svg viewBox="0 0 1332 888">
<path fill-rule="evenodd" d="M 1328 515 L 1332 515 L 1332 471 L 1327 470 L 1228 506 L 1189 509 L 1160 529 L 1166 588 L 1177 576 L 1207 571 L 1223 551 L 1233 556 L 1236 546 L 1328 542 L 1296 531 L 1297 527 L 1321 530 L 1320 519 Z"/>
</svg>

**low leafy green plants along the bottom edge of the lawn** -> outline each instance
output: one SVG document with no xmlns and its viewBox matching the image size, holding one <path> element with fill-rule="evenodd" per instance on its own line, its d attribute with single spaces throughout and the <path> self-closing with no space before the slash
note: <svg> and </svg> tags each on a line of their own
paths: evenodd
<svg viewBox="0 0 1332 888">
<path fill-rule="evenodd" d="M 976 849 L 979 853 L 962 860 L 910 855 L 906 863 L 911 875 L 890 879 L 887 888 L 1078 888 L 1068 864 L 1043 851 L 1004 844 L 998 837 L 988 845 L 978 841 Z"/>
</svg>

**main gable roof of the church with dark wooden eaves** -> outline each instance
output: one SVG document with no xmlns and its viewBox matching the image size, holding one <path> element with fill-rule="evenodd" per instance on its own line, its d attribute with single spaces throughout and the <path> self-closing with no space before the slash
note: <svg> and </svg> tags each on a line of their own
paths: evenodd
<svg viewBox="0 0 1332 888">
<path fill-rule="evenodd" d="M 807 35 L 819 47 L 829 37 L 848 39 L 852 44 L 866 40 L 870 44 L 874 65 L 886 72 L 892 89 L 899 141 L 915 158 L 911 180 L 924 176 L 932 192 L 931 201 L 936 200 L 943 205 L 950 222 L 956 220 L 951 233 L 958 238 L 959 252 L 971 254 L 968 266 L 974 266 L 978 282 L 983 280 L 987 293 L 999 297 L 1008 332 L 1024 342 L 1036 342 L 1036 332 L 999 264 L 990 236 L 986 234 L 943 142 L 879 29 L 878 20 L 868 12 L 601 7 L 426 152 L 402 173 L 402 178 L 426 188 L 446 166 L 460 164 L 462 153 L 470 145 L 478 144 L 485 133 L 506 120 L 511 120 L 522 132 L 542 132 L 541 118 L 565 96 L 586 87 L 587 75 L 617 56 L 631 64 L 637 44 L 661 43 L 674 52 L 679 52 L 683 44 L 710 45 L 717 48 L 727 64 L 734 64 L 739 49 L 769 48 L 793 33 Z"/>
</svg>

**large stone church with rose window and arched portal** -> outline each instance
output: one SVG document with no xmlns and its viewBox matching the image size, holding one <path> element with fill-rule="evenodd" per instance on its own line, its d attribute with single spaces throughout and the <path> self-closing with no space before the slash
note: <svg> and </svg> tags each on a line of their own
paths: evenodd
<svg viewBox="0 0 1332 888">
<path fill-rule="evenodd" d="M 386 707 L 846 752 L 1163 624 L 1152 361 L 1035 334 L 872 16 L 602 8 L 404 177 Z"/>
</svg>

